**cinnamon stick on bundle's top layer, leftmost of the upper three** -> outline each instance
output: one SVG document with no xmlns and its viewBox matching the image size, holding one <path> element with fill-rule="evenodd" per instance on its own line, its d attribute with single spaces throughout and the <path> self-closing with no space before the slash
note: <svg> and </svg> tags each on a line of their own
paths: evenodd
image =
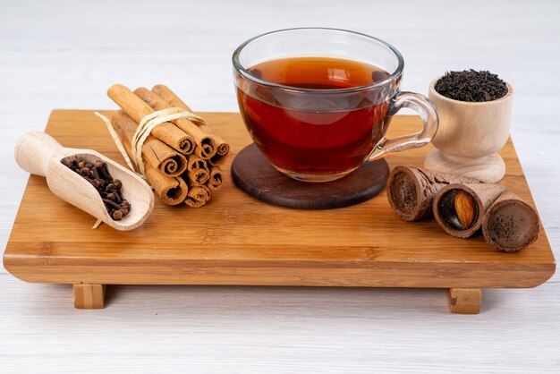
<svg viewBox="0 0 560 374">
<path fill-rule="evenodd" d="M 113 99 L 116 105 L 120 106 L 127 115 L 131 116 L 136 123 L 140 123 L 142 118 L 146 115 L 154 113 L 154 109 L 122 84 L 111 86 L 107 90 L 107 95 L 109 98 Z M 152 130 L 151 134 L 184 155 L 191 154 L 195 149 L 195 142 L 191 136 L 182 132 L 182 130 L 173 123 L 161 123 Z"/>
</svg>

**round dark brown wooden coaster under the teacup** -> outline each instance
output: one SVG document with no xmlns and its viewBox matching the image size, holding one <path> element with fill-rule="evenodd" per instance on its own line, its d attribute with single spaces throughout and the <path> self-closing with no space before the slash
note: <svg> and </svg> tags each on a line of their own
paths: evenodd
<svg viewBox="0 0 560 374">
<path fill-rule="evenodd" d="M 255 144 L 233 159 L 233 183 L 250 196 L 281 207 L 343 208 L 369 200 L 383 190 L 389 175 L 385 160 L 369 162 L 333 182 L 296 181 L 276 170 Z"/>
</svg>

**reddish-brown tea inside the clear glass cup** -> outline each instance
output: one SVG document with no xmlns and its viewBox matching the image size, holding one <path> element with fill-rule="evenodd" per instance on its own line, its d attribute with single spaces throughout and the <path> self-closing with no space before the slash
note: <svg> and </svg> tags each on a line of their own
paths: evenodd
<svg viewBox="0 0 560 374">
<path fill-rule="evenodd" d="M 254 84 L 237 89 L 253 140 L 277 167 L 297 174 L 338 174 L 361 166 L 386 129 L 388 98 L 368 86 L 389 74 L 361 62 L 294 57 L 250 67 L 259 79 L 294 89 Z"/>
</svg>

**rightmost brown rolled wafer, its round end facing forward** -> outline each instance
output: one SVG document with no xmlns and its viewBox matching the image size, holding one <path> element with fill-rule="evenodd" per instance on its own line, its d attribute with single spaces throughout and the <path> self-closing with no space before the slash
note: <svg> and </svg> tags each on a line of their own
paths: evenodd
<svg viewBox="0 0 560 374">
<path fill-rule="evenodd" d="M 482 222 L 486 241 L 499 251 L 515 252 L 527 248 L 539 237 L 539 215 L 511 191 L 492 204 Z"/>
</svg>

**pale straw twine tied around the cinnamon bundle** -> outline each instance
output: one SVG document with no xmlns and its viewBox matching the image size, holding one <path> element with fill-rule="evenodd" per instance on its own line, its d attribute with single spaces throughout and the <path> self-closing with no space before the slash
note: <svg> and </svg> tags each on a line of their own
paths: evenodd
<svg viewBox="0 0 560 374">
<path fill-rule="evenodd" d="M 126 165 L 136 174 L 139 174 L 140 177 L 146 179 L 146 169 L 144 166 L 144 161 L 142 160 L 142 147 L 144 146 L 144 142 L 148 139 L 149 134 L 160 124 L 174 121 L 179 118 L 186 118 L 190 120 L 192 123 L 197 125 L 201 124 L 208 124 L 202 117 L 199 115 L 195 115 L 194 113 L 185 110 L 181 107 L 170 107 L 162 110 L 157 110 L 149 115 L 146 115 L 140 121 L 138 127 L 136 128 L 136 132 L 132 136 L 131 142 L 131 157 L 128 157 L 126 150 L 124 149 L 123 142 L 119 135 L 115 132 L 115 128 L 113 124 L 105 115 L 101 115 L 98 112 L 94 112 L 99 118 L 101 118 L 106 126 L 109 134 L 111 134 L 111 138 L 115 141 L 115 145 L 121 155 L 124 157 L 124 161 L 126 161 Z"/>
</svg>

